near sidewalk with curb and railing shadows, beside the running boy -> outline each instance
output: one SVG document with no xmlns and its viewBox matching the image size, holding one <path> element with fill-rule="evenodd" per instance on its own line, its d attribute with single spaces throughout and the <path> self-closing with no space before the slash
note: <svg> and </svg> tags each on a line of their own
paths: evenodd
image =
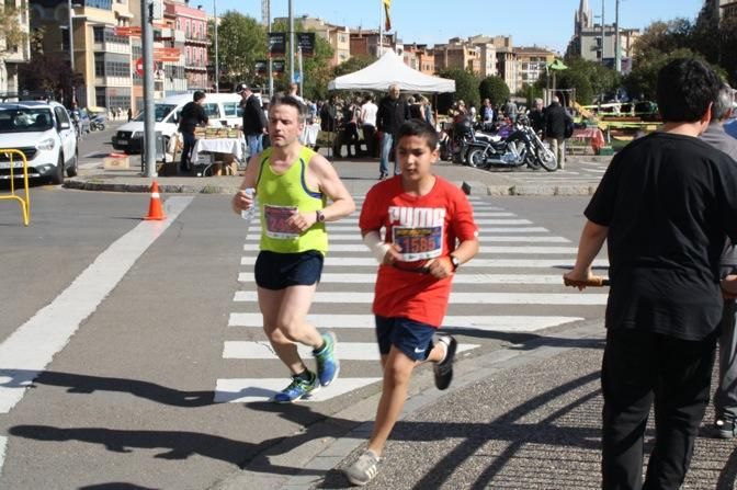
<svg viewBox="0 0 737 490">
<path fill-rule="evenodd" d="M 602 349 L 603 327 L 593 322 L 460 361 L 447 392 L 432 386 L 430 368 L 420 368 L 412 385 L 421 388 L 408 400 L 378 476 L 365 488 L 601 488 Z M 368 413 L 364 420 L 372 420 L 370 409 L 375 409 L 376 401 L 377 396 L 371 397 L 351 411 Z M 372 423 L 361 423 L 344 436 L 330 436 L 340 432 L 348 417 L 331 415 L 325 422 L 331 425 L 327 430 L 307 428 L 303 435 L 311 446 L 295 447 L 287 440 L 215 488 L 247 488 L 247 482 L 260 489 L 350 487 L 340 469 L 365 448 Z M 710 408 L 706 424 L 712 418 Z M 654 433 L 650 418 L 646 452 Z M 305 445 L 306 451 L 313 449 L 306 458 L 304 448 L 299 454 Z M 294 476 L 268 475 L 274 464 L 299 469 Z M 736 477 L 735 441 L 700 437 L 682 488 L 733 489 Z"/>
</svg>

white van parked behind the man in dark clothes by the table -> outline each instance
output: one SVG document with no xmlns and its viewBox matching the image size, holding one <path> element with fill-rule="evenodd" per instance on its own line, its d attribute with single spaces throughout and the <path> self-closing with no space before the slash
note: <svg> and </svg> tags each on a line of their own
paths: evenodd
<svg viewBox="0 0 737 490">
<path fill-rule="evenodd" d="M 179 127 L 179 114 L 184 105 L 192 102 L 193 94 L 169 95 L 154 103 L 155 130 L 163 136 L 163 148 Z M 211 125 L 239 126 L 243 122 L 240 109 L 241 98 L 237 93 L 207 93 L 203 109 Z M 144 113 L 132 122 L 118 127 L 113 135 L 113 148 L 126 153 L 139 153 L 144 137 Z"/>
</svg>

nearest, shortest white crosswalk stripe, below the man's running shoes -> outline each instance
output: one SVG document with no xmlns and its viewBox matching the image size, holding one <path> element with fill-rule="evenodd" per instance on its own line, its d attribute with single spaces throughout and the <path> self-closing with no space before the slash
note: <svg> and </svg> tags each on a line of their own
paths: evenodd
<svg viewBox="0 0 737 490">
<path fill-rule="evenodd" d="M 326 401 L 331 398 L 354 391 L 364 386 L 381 381 L 382 378 L 338 378 L 326 388 L 313 391 L 309 398 L 299 402 Z M 283 378 L 227 378 L 218 379 L 215 386 L 215 403 L 253 403 L 268 401 L 276 392 L 288 385 L 287 377 Z"/>
</svg>

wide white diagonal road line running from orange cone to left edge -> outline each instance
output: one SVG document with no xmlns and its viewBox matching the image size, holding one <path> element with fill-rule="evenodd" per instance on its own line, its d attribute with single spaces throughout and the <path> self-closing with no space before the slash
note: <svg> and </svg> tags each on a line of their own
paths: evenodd
<svg viewBox="0 0 737 490">
<path fill-rule="evenodd" d="M 166 231 L 193 197 L 169 197 L 167 219 L 141 221 L 114 241 L 49 305 L 0 344 L 0 413 L 8 413 L 25 388 L 61 351 L 138 258 Z"/>
</svg>

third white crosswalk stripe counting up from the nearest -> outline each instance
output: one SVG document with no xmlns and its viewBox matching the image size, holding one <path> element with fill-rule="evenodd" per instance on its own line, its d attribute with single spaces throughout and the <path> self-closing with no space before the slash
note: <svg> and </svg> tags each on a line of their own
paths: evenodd
<svg viewBox="0 0 737 490">
<path fill-rule="evenodd" d="M 536 317 L 536 316 L 449 316 L 443 320 L 443 329 L 483 330 L 496 332 L 534 332 L 536 330 L 557 327 L 572 321 L 583 320 L 582 317 Z M 307 321 L 326 329 L 373 329 L 374 316 L 362 315 L 319 315 L 310 314 Z M 230 314 L 228 327 L 262 328 L 261 314 Z"/>
</svg>

